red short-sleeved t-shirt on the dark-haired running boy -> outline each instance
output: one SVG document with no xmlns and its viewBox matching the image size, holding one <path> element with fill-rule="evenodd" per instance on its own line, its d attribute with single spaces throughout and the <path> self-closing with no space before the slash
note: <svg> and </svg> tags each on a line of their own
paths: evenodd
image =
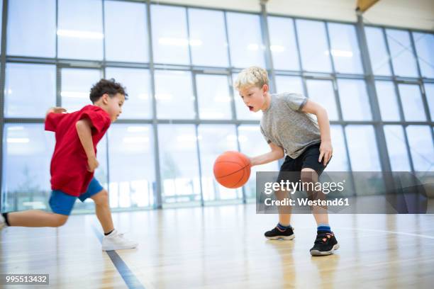
<svg viewBox="0 0 434 289">
<path fill-rule="evenodd" d="M 91 122 L 96 154 L 96 145 L 111 124 L 109 113 L 102 108 L 89 105 L 74 113 L 49 113 L 45 120 L 45 130 L 55 132 L 56 136 L 50 166 L 51 189 L 77 197 L 87 191 L 94 176 L 87 170 L 86 152 L 75 127 L 77 121 L 84 118 Z"/>
</svg>

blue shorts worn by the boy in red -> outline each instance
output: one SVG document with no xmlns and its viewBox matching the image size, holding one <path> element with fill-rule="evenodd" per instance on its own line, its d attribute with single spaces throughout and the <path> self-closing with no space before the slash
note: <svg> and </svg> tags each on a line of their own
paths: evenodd
<svg viewBox="0 0 434 289">
<path fill-rule="evenodd" d="M 95 178 L 91 179 L 89 183 L 89 187 L 87 187 L 86 193 L 82 194 L 79 197 L 68 195 L 67 193 L 63 193 L 62 191 L 53 190 L 51 191 L 50 196 L 50 208 L 52 212 L 60 215 L 71 215 L 72 208 L 74 208 L 74 203 L 77 198 L 84 202 L 87 198 L 96 195 L 100 191 L 104 190 L 101 186 L 101 183 L 97 181 Z"/>
</svg>

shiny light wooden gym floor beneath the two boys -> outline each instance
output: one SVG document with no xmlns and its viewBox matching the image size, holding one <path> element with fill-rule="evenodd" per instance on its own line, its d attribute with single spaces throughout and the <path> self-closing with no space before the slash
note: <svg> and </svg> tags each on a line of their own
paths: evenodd
<svg viewBox="0 0 434 289">
<path fill-rule="evenodd" d="M 330 215 L 340 249 L 312 257 L 311 215 L 293 241 L 263 237 L 277 215 L 255 205 L 122 212 L 137 249 L 101 251 L 94 215 L 0 232 L 0 273 L 48 273 L 50 288 L 433 288 L 434 215 Z M 1 285 L 0 285 L 1 287 Z M 11 285 L 4 288 L 46 286 Z"/>
</svg>

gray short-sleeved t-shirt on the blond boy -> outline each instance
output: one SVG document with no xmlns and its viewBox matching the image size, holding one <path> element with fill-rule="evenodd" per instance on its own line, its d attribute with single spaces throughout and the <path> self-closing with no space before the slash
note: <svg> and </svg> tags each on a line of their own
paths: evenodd
<svg viewBox="0 0 434 289">
<path fill-rule="evenodd" d="M 293 159 L 306 147 L 321 142 L 316 118 L 301 111 L 306 101 L 301 94 L 272 94 L 269 108 L 262 114 L 260 127 L 265 140 L 283 147 Z"/>
</svg>

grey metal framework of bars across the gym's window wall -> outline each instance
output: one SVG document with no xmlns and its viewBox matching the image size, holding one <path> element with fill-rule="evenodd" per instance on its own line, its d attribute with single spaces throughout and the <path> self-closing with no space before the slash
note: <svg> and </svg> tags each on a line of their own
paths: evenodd
<svg viewBox="0 0 434 289">
<path fill-rule="evenodd" d="M 158 125 L 160 124 L 192 124 L 195 127 L 196 132 L 196 138 L 198 135 L 199 125 L 206 125 L 206 124 L 232 124 L 235 125 L 235 132 L 237 135 L 237 146 L 238 149 L 240 149 L 240 142 L 238 141 L 238 128 L 240 125 L 257 125 L 259 123 L 258 120 L 239 120 L 237 118 L 236 113 L 236 107 L 235 107 L 235 96 L 233 94 L 233 89 L 231 88 L 232 84 L 232 76 L 236 72 L 240 72 L 240 68 L 233 67 L 232 66 L 232 60 L 230 56 L 230 43 L 228 39 L 228 21 L 227 21 L 227 13 L 245 13 L 255 16 L 260 16 L 260 24 L 261 24 L 261 35 L 262 35 L 262 41 L 266 45 L 265 50 L 265 60 L 267 65 L 267 70 L 269 71 L 269 74 L 271 76 L 271 84 L 276 86 L 275 82 L 275 76 L 276 75 L 291 75 L 291 76 L 298 76 L 301 77 L 303 89 L 306 94 L 308 95 L 307 86 L 306 86 L 306 80 L 307 79 L 330 79 L 333 83 L 334 88 L 334 94 L 335 94 L 335 101 L 336 106 L 338 109 L 338 120 L 330 121 L 331 125 L 340 125 L 343 131 L 343 137 L 345 142 L 345 154 L 347 156 L 347 161 L 349 164 L 349 168 L 351 169 L 351 161 L 350 161 L 350 154 L 348 150 L 348 146 L 350 145 L 347 141 L 347 136 L 345 133 L 345 126 L 346 125 L 372 125 L 374 128 L 374 132 L 376 134 L 377 139 L 377 149 L 379 149 L 380 154 L 380 164 L 382 166 L 382 169 L 390 169 L 390 159 L 388 156 L 387 148 L 386 148 L 386 140 L 384 137 L 384 125 L 401 125 L 404 129 L 404 137 L 406 142 L 406 149 L 408 154 L 409 162 L 411 163 L 411 171 L 414 171 L 413 167 L 413 159 L 411 158 L 411 148 L 409 147 L 408 143 L 408 136 L 406 133 L 406 127 L 408 125 L 426 125 L 430 126 L 431 136 L 434 141 L 434 122 L 432 118 L 430 119 L 430 112 L 428 108 L 428 100 L 427 96 L 425 94 L 425 88 L 423 86 L 424 83 L 434 83 L 434 79 L 426 79 L 421 77 L 421 69 L 418 62 L 418 56 L 417 51 L 413 39 L 413 32 L 421 32 L 421 33 L 430 33 L 433 34 L 433 31 L 430 30 L 422 30 L 422 29 L 411 29 L 411 28 L 399 28 L 394 26 L 379 26 L 375 24 L 366 24 L 366 26 L 369 27 L 377 27 L 382 29 L 382 33 L 384 36 L 384 40 L 386 43 L 387 53 L 389 56 L 389 65 L 391 67 L 391 76 L 377 76 L 374 75 L 372 72 L 372 68 L 370 67 L 370 60 L 369 60 L 369 52 L 367 51 L 367 40 L 365 36 L 365 23 L 362 19 L 362 17 L 357 17 L 357 22 L 352 21 L 333 21 L 328 19 L 318 19 L 318 18 L 309 18 L 309 17 L 300 17 L 300 16 L 293 16 L 293 15 L 279 15 L 276 13 L 267 13 L 267 7 L 264 3 L 260 4 L 260 9 L 258 11 L 238 11 L 234 9 L 226 9 L 226 8 L 211 8 L 206 6 L 194 6 L 194 5 L 182 5 L 182 4 L 170 4 L 165 3 L 164 1 L 154 1 L 154 0 L 116 0 L 116 1 L 125 1 L 125 2 L 131 2 L 131 3 L 138 3 L 145 5 L 146 8 L 146 23 L 145 25 L 146 30 L 148 32 L 148 53 L 149 53 L 149 62 L 113 62 L 113 61 L 107 61 L 106 60 L 106 49 L 105 49 L 105 40 L 103 40 L 103 60 L 69 60 L 69 59 L 61 59 L 58 57 L 58 37 L 56 34 L 56 40 L 55 40 L 55 58 L 46 58 L 46 57 L 26 57 L 26 56 L 20 56 L 20 55 L 7 55 L 6 54 L 6 34 L 7 34 L 7 23 L 8 23 L 8 4 L 10 0 L 4 0 L 3 2 L 3 9 L 2 9 L 2 35 L 1 35 L 1 57 L 0 57 L 0 135 L 3 138 L 3 130 L 4 125 L 6 123 L 43 123 L 42 118 L 4 118 L 4 87 L 5 87 L 5 80 L 6 80 L 6 63 L 28 63 L 28 64 L 55 64 L 56 66 L 56 72 L 57 72 L 57 81 L 56 81 L 56 105 L 61 105 L 61 97 L 60 97 L 60 91 L 61 91 L 61 82 L 62 82 L 62 75 L 61 75 L 61 69 L 62 68 L 92 68 L 92 69 L 99 69 L 101 74 L 105 76 L 106 68 L 107 67 L 126 67 L 126 68 L 142 68 L 142 69 L 149 69 L 150 72 L 150 86 L 151 86 L 151 93 L 152 93 L 152 99 L 151 99 L 151 105 L 152 105 L 152 118 L 147 119 L 130 119 L 130 120 L 119 120 L 118 123 L 133 123 L 133 124 L 149 124 L 152 125 L 153 129 L 153 136 L 154 136 L 154 147 L 153 151 L 155 154 L 154 157 L 154 169 L 155 169 L 155 202 L 153 205 L 153 208 L 155 209 L 161 209 L 163 208 L 163 201 L 162 201 L 162 183 L 161 183 L 161 175 L 160 175 L 160 145 L 158 140 Z M 104 7 L 105 7 L 105 1 L 101 0 L 102 3 L 102 13 L 103 13 L 103 33 L 105 32 L 105 16 L 104 16 Z M 55 23 L 56 23 L 56 30 L 58 26 L 58 0 L 55 1 L 56 5 L 56 15 L 55 15 Z M 221 11 L 223 12 L 224 16 L 224 30 L 226 33 L 226 42 L 228 42 L 228 67 L 201 67 L 193 65 L 191 62 L 191 47 L 189 46 L 189 65 L 177 65 L 177 64 L 159 64 L 155 63 L 153 60 L 153 51 L 152 51 L 152 27 L 151 27 L 151 5 L 164 5 L 164 6 L 177 6 L 177 7 L 183 7 L 185 8 L 186 14 L 187 14 L 187 33 L 189 35 L 189 15 L 188 15 L 188 9 L 189 8 L 200 8 L 205 9 L 208 11 Z M 279 17 L 279 18 L 289 18 L 293 22 L 294 26 L 294 35 L 296 38 L 296 51 L 299 56 L 299 71 L 291 71 L 291 70 L 276 70 L 274 69 L 273 63 L 272 63 L 272 53 L 271 50 L 269 50 L 269 29 L 267 20 L 268 17 Z M 356 28 L 356 36 L 357 41 L 359 42 L 359 48 L 360 48 L 360 57 L 362 58 L 362 65 L 364 66 L 363 74 L 338 74 L 335 72 L 334 67 L 334 60 L 332 55 L 330 55 L 330 63 L 332 65 L 332 72 L 331 73 L 318 73 L 318 72 L 308 72 L 303 69 L 302 66 L 302 60 L 301 60 L 301 51 L 300 51 L 300 45 L 299 45 L 299 31 L 296 27 L 296 20 L 297 19 L 303 19 L 303 20 L 309 20 L 309 21 L 322 21 L 325 25 L 325 33 L 328 40 L 328 49 L 330 50 L 330 35 L 328 32 L 328 23 L 343 23 L 343 24 L 350 24 L 355 26 Z M 406 78 L 406 77 L 396 77 L 393 70 L 393 65 L 391 64 L 391 56 L 389 51 L 389 46 L 387 42 L 387 38 L 385 37 L 385 29 L 397 29 L 397 30 L 405 30 L 408 33 L 410 33 L 411 38 L 411 45 L 413 50 L 413 55 L 416 57 L 416 65 L 418 67 L 418 74 L 419 77 L 417 78 Z M 363 40 L 365 38 L 365 40 Z M 365 63 L 369 62 L 369 63 Z M 365 67 L 367 66 L 367 68 Z M 196 115 L 195 118 L 184 120 L 184 119 L 162 119 L 157 118 L 157 103 L 155 99 L 155 70 L 156 69 L 166 69 L 166 70 L 184 70 L 191 72 L 192 77 L 192 85 L 193 85 L 193 91 L 194 91 L 194 97 L 195 97 L 195 111 Z M 196 85 L 195 85 L 195 79 L 196 74 L 226 74 L 228 76 L 228 86 L 229 86 L 229 92 L 230 92 L 230 98 L 231 98 L 231 110 L 232 110 L 232 119 L 230 120 L 201 120 L 199 119 L 199 103 L 198 103 L 198 97 L 197 97 L 197 91 L 196 91 Z M 343 120 L 342 116 L 342 108 L 340 106 L 340 98 L 339 98 L 339 91 L 337 88 L 337 79 L 364 79 L 365 84 L 367 85 L 367 91 L 369 96 L 369 105 L 370 108 L 372 108 L 372 120 L 369 121 L 348 121 Z M 374 81 L 375 80 L 387 80 L 391 81 L 394 84 L 395 90 L 396 90 L 396 98 L 399 105 L 399 113 L 401 120 L 399 121 L 383 121 L 381 119 L 381 115 L 379 112 L 379 106 L 377 102 L 377 92 L 375 89 Z M 405 121 L 404 119 L 404 113 L 402 111 L 402 103 L 401 103 L 401 97 L 399 96 L 399 89 L 398 84 L 399 83 L 413 83 L 418 84 L 421 89 L 421 97 L 423 99 L 423 107 L 424 111 L 427 115 L 427 121 Z M 274 87 L 275 90 L 275 87 Z M 372 107 L 374 106 L 374 107 Z M 199 179 L 201 180 L 201 153 L 199 149 L 199 144 L 196 144 L 197 150 L 197 159 L 199 162 Z M 3 165 L 3 148 L 0 150 L 0 163 Z M 107 162 L 108 162 L 108 172 L 107 172 L 107 181 L 110 182 L 110 174 L 109 174 L 109 137 L 107 137 Z M 0 174 L 0 187 L 1 187 L 1 193 L 0 193 L 0 208 L 1 207 L 1 201 L 4 199 L 4 183 L 2 179 L 2 174 Z M 245 195 L 245 188 L 243 188 L 243 203 L 246 203 L 246 195 Z M 201 184 L 201 205 L 204 206 L 208 202 L 204 202 L 203 197 L 203 187 Z M 146 209 L 146 208 L 143 208 Z M 128 210 L 128 209 L 127 209 Z"/>
</svg>

